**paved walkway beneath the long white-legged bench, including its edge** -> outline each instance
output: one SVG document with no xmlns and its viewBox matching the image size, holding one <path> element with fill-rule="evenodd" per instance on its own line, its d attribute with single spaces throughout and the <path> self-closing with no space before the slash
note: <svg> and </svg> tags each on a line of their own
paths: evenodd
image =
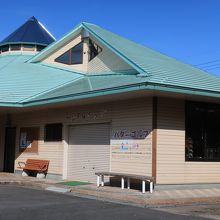
<svg viewBox="0 0 220 220">
<path fill-rule="evenodd" d="M 195 187 L 195 186 L 194 186 Z M 119 187 L 99 187 L 95 185 L 83 185 L 72 187 L 71 192 L 79 195 L 92 196 L 103 200 L 112 200 L 121 203 L 132 203 L 142 207 L 156 207 L 163 205 L 181 205 L 193 203 L 220 202 L 220 186 L 207 188 L 187 189 L 156 189 L 153 193 L 141 193 L 138 190 Z M 163 187 L 164 188 L 164 187 Z"/>
</svg>

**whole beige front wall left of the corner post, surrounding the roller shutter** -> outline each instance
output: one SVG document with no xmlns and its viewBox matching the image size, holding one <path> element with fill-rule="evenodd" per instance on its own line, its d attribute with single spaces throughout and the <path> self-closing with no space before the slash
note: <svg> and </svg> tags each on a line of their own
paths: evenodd
<svg viewBox="0 0 220 220">
<path fill-rule="evenodd" d="M 12 117 L 13 126 L 17 127 L 15 168 L 17 169 L 18 161 L 26 161 L 27 158 L 49 159 L 48 173 L 62 175 L 66 173 L 65 167 L 67 167 L 63 158 L 67 158 L 68 154 L 68 126 L 109 122 L 111 124 L 111 170 L 151 175 L 151 114 L 151 98 L 15 114 Z M 44 125 L 57 122 L 62 122 L 64 125 L 65 140 L 44 142 Z M 20 154 L 19 130 L 20 127 L 29 126 L 40 127 L 39 152 Z M 138 132 L 138 134 L 135 137 L 115 136 L 119 132 L 127 135 L 132 132 Z M 149 134 L 145 135 L 146 132 Z M 128 147 L 127 150 L 121 149 L 122 143 Z"/>
</svg>

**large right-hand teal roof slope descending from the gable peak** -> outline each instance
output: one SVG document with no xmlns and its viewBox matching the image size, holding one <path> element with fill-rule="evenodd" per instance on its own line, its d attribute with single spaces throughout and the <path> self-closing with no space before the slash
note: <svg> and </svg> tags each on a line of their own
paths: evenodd
<svg viewBox="0 0 220 220">
<path fill-rule="evenodd" d="M 220 92 L 220 77 L 113 34 L 97 25 L 85 27 L 125 60 L 132 61 L 149 82 Z"/>
</svg>

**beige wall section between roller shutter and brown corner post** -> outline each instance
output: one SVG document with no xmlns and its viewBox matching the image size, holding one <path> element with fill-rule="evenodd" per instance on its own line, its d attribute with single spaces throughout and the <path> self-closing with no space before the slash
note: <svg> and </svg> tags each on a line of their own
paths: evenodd
<svg viewBox="0 0 220 220">
<path fill-rule="evenodd" d="M 111 171 L 151 175 L 152 99 L 122 102 L 114 107 L 112 118 Z M 125 137 L 118 138 L 121 132 Z M 138 137 L 129 137 L 135 133 Z M 122 150 L 122 144 L 128 150 Z"/>
</svg>

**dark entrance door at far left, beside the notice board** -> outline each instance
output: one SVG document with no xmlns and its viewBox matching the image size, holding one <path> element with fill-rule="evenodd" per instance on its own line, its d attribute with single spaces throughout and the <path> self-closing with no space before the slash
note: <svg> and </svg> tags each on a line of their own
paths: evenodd
<svg viewBox="0 0 220 220">
<path fill-rule="evenodd" d="M 16 128 L 5 129 L 4 172 L 14 173 Z"/>
</svg>

